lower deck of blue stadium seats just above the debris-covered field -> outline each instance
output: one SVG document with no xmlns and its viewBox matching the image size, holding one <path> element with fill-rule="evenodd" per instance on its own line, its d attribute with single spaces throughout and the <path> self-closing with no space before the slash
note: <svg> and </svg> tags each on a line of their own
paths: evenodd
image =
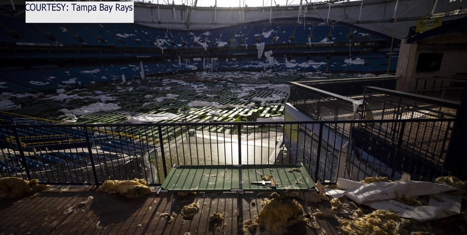
<svg viewBox="0 0 467 235">
<path fill-rule="evenodd" d="M 279 53 L 280 54 L 280 53 Z M 241 55 L 240 55 L 241 56 Z M 236 57 L 232 55 L 232 57 Z M 297 71 L 333 71 L 333 72 L 385 72 L 394 71 L 397 57 L 393 57 L 390 64 L 388 58 L 375 52 L 359 55 L 363 62 L 349 62 L 346 56 L 312 56 L 309 58 L 294 58 L 294 61 L 285 61 L 283 55 L 276 56 L 273 66 L 266 59 L 240 59 L 218 60 L 210 64 L 210 60 L 178 62 L 147 62 L 144 63 L 144 73 L 161 74 L 167 72 L 185 72 L 202 69 L 218 70 L 297 70 Z M 288 58 L 289 60 L 291 58 Z M 354 58 L 356 59 L 356 58 Z M 206 64 L 207 63 L 207 64 Z M 286 64 L 287 63 L 287 64 Z M 6 70 L 0 71 L 0 90 L 11 92 L 38 92 L 51 91 L 63 87 L 80 87 L 82 85 L 98 83 L 118 83 L 140 77 L 140 65 L 109 65 L 93 67 L 71 68 L 44 68 L 34 70 Z"/>
</svg>

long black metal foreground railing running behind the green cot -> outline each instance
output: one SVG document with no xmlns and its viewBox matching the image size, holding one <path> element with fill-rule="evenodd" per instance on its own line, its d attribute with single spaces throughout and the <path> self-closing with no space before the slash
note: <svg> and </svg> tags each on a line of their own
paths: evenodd
<svg viewBox="0 0 467 235">
<path fill-rule="evenodd" d="M 449 156 L 432 156 L 429 149 L 415 146 L 430 139 L 441 152 L 458 147 L 450 146 L 450 132 L 423 127 L 452 128 L 453 123 L 457 131 L 467 130 L 466 121 L 455 118 L 2 125 L 0 176 L 38 178 L 49 184 L 144 178 L 158 185 L 174 164 L 302 163 L 315 180 L 330 183 L 337 177 L 398 179 L 401 172 L 433 180 L 453 172 L 444 165 Z M 375 137 L 379 126 L 394 124 L 399 126 L 397 135 Z M 332 128 L 336 125 L 351 126 L 351 134 Z"/>
</svg>

